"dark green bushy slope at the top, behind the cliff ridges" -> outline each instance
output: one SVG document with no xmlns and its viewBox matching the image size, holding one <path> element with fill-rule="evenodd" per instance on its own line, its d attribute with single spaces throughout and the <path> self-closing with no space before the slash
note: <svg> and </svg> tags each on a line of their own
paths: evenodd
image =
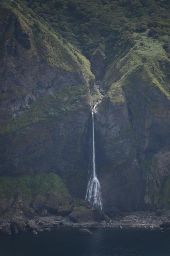
<svg viewBox="0 0 170 256">
<path fill-rule="evenodd" d="M 97 48 L 106 55 L 125 55 L 125 47 L 133 44 L 133 32 L 149 29 L 150 36 L 165 43 L 166 36 L 170 35 L 167 0 L 27 2 L 65 40 L 81 48 L 88 58 Z"/>
</svg>

